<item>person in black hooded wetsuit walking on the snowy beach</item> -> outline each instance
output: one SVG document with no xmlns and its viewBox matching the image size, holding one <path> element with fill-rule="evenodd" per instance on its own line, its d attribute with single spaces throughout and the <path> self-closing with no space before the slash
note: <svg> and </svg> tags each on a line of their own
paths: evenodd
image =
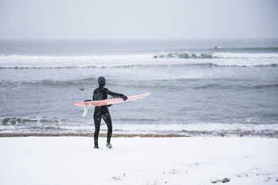
<svg viewBox="0 0 278 185">
<path fill-rule="evenodd" d="M 113 98 L 123 98 L 124 101 L 127 100 L 127 97 L 124 96 L 124 94 L 118 94 L 112 91 L 109 91 L 107 88 L 105 88 L 106 80 L 104 77 L 99 77 L 97 80 L 99 83 L 99 87 L 95 89 L 94 94 L 92 95 L 92 100 L 106 100 L 107 99 L 107 94 L 113 96 Z M 108 110 L 108 107 L 111 105 L 104 105 L 104 106 L 99 106 L 95 107 L 95 112 L 94 112 L 94 122 L 95 122 L 95 134 L 94 134 L 94 141 L 95 141 L 95 148 L 99 148 L 99 127 L 100 127 L 100 122 L 101 118 L 104 119 L 106 125 L 107 125 L 107 143 L 106 146 L 108 148 L 112 148 L 112 145 L 110 143 L 111 141 L 111 136 L 112 136 L 112 121 L 111 121 L 111 116 Z"/>
</svg>

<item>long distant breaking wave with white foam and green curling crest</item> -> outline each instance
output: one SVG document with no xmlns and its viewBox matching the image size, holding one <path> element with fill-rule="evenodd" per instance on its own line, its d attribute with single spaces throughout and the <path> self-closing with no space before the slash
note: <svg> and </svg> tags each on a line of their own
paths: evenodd
<svg viewBox="0 0 278 185">
<path fill-rule="evenodd" d="M 168 53 L 163 55 L 0 55 L 0 69 L 110 69 L 136 67 L 276 67 L 278 53 Z"/>
</svg>

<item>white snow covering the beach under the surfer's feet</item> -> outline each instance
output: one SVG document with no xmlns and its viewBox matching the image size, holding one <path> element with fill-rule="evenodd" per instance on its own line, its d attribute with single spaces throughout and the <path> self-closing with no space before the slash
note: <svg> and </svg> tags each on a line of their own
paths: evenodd
<svg viewBox="0 0 278 185">
<path fill-rule="evenodd" d="M 278 184 L 278 139 L 0 138 L 0 184 Z M 225 184 L 226 184 L 225 183 Z"/>
</svg>

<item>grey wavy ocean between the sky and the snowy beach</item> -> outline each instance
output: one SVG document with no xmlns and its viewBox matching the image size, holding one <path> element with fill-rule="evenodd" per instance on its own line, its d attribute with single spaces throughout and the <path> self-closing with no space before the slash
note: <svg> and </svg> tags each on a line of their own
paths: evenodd
<svg viewBox="0 0 278 185">
<path fill-rule="evenodd" d="M 278 136 L 278 39 L 0 40 L 0 134 L 93 133 L 74 103 L 99 76 L 151 92 L 109 107 L 114 133 Z"/>
</svg>

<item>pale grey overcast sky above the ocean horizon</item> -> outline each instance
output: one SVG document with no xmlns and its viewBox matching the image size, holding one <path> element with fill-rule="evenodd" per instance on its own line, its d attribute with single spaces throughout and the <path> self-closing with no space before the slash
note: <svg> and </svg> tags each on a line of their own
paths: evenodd
<svg viewBox="0 0 278 185">
<path fill-rule="evenodd" d="M 278 38 L 277 0 L 0 0 L 0 39 Z"/>
</svg>

